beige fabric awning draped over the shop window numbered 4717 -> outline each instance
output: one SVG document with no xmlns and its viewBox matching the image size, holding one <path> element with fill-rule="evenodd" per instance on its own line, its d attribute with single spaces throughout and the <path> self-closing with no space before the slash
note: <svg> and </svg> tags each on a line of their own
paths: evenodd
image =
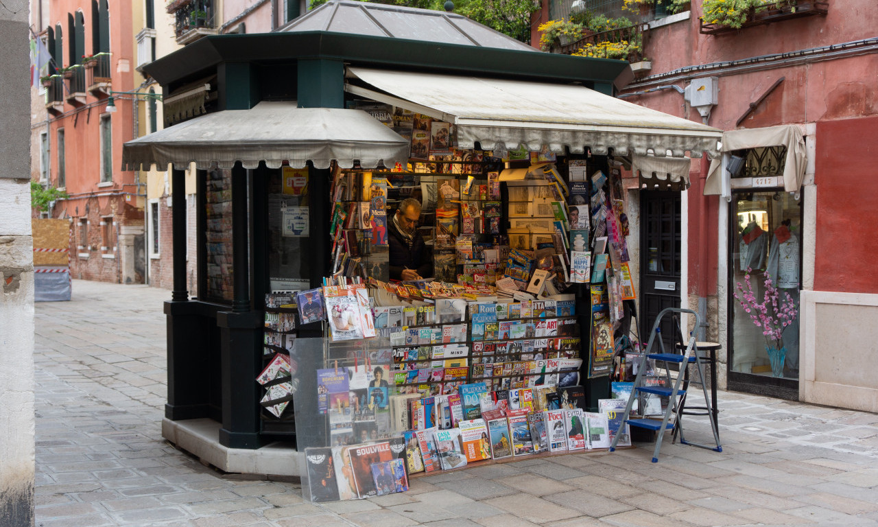
<svg viewBox="0 0 878 527">
<path fill-rule="evenodd" d="M 802 179 L 805 177 L 805 139 L 798 126 L 781 125 L 768 126 L 766 128 L 752 128 L 742 130 L 730 130 L 723 133 L 722 152 L 733 152 L 745 148 L 763 147 L 787 147 L 787 160 L 783 167 L 783 190 L 795 192 L 802 188 Z M 722 163 L 719 159 L 710 162 L 707 181 L 704 182 L 704 194 L 729 195 L 729 185 L 725 182 L 729 179 L 728 173 L 720 170 Z M 725 189 L 725 191 L 723 191 Z"/>
</svg>

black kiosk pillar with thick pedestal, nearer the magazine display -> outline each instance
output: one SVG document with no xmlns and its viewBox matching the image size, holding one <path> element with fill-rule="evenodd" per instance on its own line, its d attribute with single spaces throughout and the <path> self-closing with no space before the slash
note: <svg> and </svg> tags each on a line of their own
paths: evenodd
<svg viewBox="0 0 878 527">
<path fill-rule="evenodd" d="M 250 308 L 247 170 L 232 169 L 232 310 L 217 314 L 222 335 L 222 429 L 219 444 L 259 448 L 260 389 L 255 378 L 262 365 L 259 339 L 264 322 Z M 257 333 L 258 332 L 258 333 Z"/>
</svg>

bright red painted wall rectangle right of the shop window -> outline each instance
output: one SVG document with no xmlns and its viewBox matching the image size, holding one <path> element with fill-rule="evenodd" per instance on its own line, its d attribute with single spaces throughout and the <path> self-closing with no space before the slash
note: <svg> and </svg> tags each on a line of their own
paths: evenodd
<svg viewBox="0 0 878 527">
<path fill-rule="evenodd" d="M 816 291 L 878 293 L 878 117 L 817 123 Z"/>
</svg>

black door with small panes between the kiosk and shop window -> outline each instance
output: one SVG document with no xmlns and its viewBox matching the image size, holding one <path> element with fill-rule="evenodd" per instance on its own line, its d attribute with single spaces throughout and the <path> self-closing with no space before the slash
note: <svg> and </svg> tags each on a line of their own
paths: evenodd
<svg viewBox="0 0 878 527">
<path fill-rule="evenodd" d="M 680 307 L 680 191 L 640 191 L 640 337 L 649 339 L 662 309 Z M 680 332 L 671 317 L 662 319 L 665 349 Z"/>
</svg>

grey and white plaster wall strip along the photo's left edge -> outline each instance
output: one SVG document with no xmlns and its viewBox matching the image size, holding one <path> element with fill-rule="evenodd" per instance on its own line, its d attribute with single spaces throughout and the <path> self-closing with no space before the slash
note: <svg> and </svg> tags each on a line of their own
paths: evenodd
<svg viewBox="0 0 878 527">
<path fill-rule="evenodd" d="M 33 525 L 33 240 L 28 3 L 0 4 L 0 525 Z"/>
</svg>

